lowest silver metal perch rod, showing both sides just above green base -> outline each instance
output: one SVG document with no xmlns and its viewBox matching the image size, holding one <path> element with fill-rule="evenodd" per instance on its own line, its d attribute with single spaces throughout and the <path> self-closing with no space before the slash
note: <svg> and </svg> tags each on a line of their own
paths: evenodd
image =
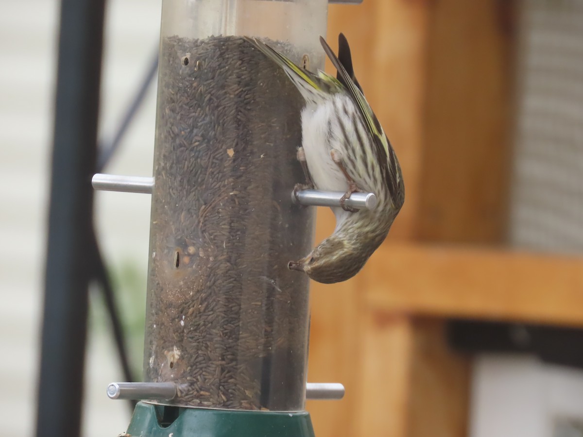
<svg viewBox="0 0 583 437">
<path fill-rule="evenodd" d="M 344 386 L 336 382 L 305 385 L 306 399 L 342 399 L 344 392 Z M 176 385 L 173 382 L 112 382 L 107 387 L 107 396 L 110 399 L 171 400 L 176 396 Z"/>
</svg>

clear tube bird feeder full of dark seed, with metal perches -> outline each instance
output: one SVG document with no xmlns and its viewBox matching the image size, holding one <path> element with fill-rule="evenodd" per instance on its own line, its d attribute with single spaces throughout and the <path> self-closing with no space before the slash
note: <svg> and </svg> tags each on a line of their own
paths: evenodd
<svg viewBox="0 0 583 437">
<path fill-rule="evenodd" d="M 130 435 L 311 436 L 308 277 L 314 211 L 343 193 L 305 190 L 303 98 L 243 36 L 324 69 L 328 0 L 163 0 L 153 178 L 97 174 L 96 189 L 152 194 L 144 382 Z M 352 207 L 371 205 L 355 193 Z M 173 434 L 171 434 L 173 433 Z"/>
</svg>

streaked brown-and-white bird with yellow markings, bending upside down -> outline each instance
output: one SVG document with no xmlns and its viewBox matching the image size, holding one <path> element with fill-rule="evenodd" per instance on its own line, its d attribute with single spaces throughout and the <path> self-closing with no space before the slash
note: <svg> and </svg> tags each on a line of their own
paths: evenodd
<svg viewBox="0 0 583 437">
<path fill-rule="evenodd" d="M 332 235 L 288 268 L 325 284 L 350 279 L 387 237 L 405 202 L 405 185 L 395 151 L 354 75 L 348 41 L 339 34 L 336 57 L 320 37 L 336 69 L 334 77 L 301 68 L 257 38 L 245 39 L 283 69 L 305 100 L 297 158 L 307 186 L 344 192 L 340 206 L 332 207 Z M 301 188 L 305 185 L 297 185 L 296 192 Z M 350 208 L 346 199 L 354 192 L 374 193 L 377 205 L 372 210 Z"/>
</svg>

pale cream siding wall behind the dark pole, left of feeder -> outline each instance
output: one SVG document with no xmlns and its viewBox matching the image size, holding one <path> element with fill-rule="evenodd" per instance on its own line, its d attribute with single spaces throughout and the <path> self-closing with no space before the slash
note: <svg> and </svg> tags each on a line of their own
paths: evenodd
<svg viewBox="0 0 583 437">
<path fill-rule="evenodd" d="M 46 244 L 59 2 L 0 2 L 0 421 L 4 436 L 34 432 Z M 107 2 L 100 133 L 113 134 L 156 54 L 160 1 Z M 155 86 L 107 168 L 152 175 Z M 149 238 L 147 195 L 96 193 L 104 257 L 141 375 Z M 129 408 L 107 398 L 121 380 L 101 296 L 91 296 L 83 435 L 125 431 Z M 64 357 L 66 359 L 66 357 Z M 121 378 L 121 379 L 120 379 Z M 66 396 L 66 393 L 63 393 Z"/>
</svg>

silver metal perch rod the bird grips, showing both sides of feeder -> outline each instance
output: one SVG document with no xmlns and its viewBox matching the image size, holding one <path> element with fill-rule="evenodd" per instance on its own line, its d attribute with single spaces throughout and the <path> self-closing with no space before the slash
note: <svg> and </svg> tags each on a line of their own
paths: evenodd
<svg viewBox="0 0 583 437">
<path fill-rule="evenodd" d="M 93 175 L 93 188 L 103 191 L 121 191 L 126 193 L 152 194 L 154 178 L 140 176 L 121 176 L 97 173 Z M 339 207 L 344 193 L 335 191 L 302 190 L 292 193 L 294 202 L 304 206 Z M 377 196 L 374 193 L 352 193 L 346 199 L 345 205 L 354 209 L 374 209 L 377 206 Z"/>
</svg>

